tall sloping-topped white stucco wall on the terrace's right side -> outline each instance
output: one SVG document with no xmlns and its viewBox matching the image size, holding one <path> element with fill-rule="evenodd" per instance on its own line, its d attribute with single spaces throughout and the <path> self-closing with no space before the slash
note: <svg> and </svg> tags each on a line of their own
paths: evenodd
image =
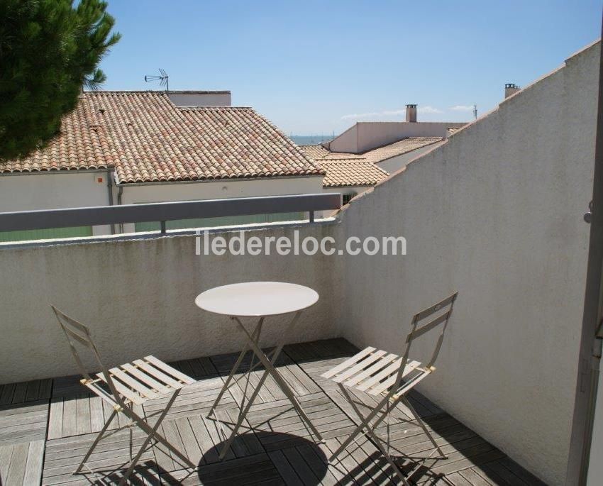
<svg viewBox="0 0 603 486">
<path fill-rule="evenodd" d="M 599 49 L 365 193 L 338 226 L 340 239 L 404 236 L 408 250 L 341 258 L 343 336 L 400 351 L 412 314 L 458 290 L 421 390 L 551 485 L 564 482 L 575 396 Z"/>
</svg>

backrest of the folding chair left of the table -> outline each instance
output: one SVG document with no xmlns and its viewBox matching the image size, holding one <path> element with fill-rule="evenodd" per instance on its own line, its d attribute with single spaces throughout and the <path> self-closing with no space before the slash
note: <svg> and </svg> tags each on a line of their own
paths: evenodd
<svg viewBox="0 0 603 486">
<path fill-rule="evenodd" d="M 92 352 L 96 363 L 98 363 L 98 370 L 101 370 L 101 372 L 103 373 L 103 381 L 109 387 L 109 390 L 112 395 L 111 399 L 113 399 L 114 402 L 117 402 L 118 404 L 123 406 L 123 400 L 121 399 L 120 394 L 118 394 L 116 390 L 109 370 L 107 370 L 101 360 L 101 355 L 99 353 L 99 350 L 96 348 L 94 341 L 92 341 L 92 336 L 90 336 L 90 331 L 88 327 L 84 326 L 84 324 L 76 321 L 72 317 L 67 316 L 52 304 L 50 306 L 52 307 L 52 311 L 55 312 L 55 316 L 57 316 L 57 321 L 59 321 L 59 324 L 63 332 L 65 333 L 65 337 L 69 342 L 70 350 L 73 355 L 73 358 L 75 359 L 75 362 L 77 363 L 79 372 L 82 373 L 82 376 L 85 379 L 84 385 L 89 385 L 89 383 L 98 380 L 91 376 L 91 373 L 89 372 L 89 370 L 87 370 L 86 366 L 84 365 L 84 361 L 82 360 L 82 357 L 80 356 L 80 351 L 78 350 L 78 345 L 83 346 L 84 348 L 87 348 L 89 352 Z"/>
</svg>

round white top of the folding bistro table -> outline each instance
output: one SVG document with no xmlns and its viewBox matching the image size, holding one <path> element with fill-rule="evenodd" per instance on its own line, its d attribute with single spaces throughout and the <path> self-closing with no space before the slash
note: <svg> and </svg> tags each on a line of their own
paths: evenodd
<svg viewBox="0 0 603 486">
<path fill-rule="evenodd" d="M 316 304 L 319 294 L 285 282 L 244 282 L 206 290 L 194 299 L 198 307 L 227 316 L 275 316 Z"/>
</svg>

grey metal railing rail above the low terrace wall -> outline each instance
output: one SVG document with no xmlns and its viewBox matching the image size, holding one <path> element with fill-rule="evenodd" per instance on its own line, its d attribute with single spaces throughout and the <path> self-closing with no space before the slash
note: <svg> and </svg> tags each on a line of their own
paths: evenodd
<svg viewBox="0 0 603 486">
<path fill-rule="evenodd" d="M 329 193 L 16 211 L 0 213 L 0 231 L 160 221 L 161 232 L 165 233 L 165 222 L 175 219 L 307 211 L 309 221 L 312 222 L 314 221 L 314 211 L 339 209 L 340 207 L 341 194 Z"/>
</svg>

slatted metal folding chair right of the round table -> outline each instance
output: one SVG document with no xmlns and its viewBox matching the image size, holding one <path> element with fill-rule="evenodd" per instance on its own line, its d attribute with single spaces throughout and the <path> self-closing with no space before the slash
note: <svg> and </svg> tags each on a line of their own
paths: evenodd
<svg viewBox="0 0 603 486">
<path fill-rule="evenodd" d="M 387 418 L 392 409 L 400 402 L 410 411 L 412 415 L 411 419 L 414 419 L 421 426 L 421 429 L 423 429 L 429 441 L 433 444 L 433 451 L 426 458 L 431 458 L 436 451 L 440 454 L 440 458 L 446 458 L 446 455 L 428 431 L 423 420 L 421 420 L 419 414 L 416 413 L 406 398 L 406 394 L 436 370 L 433 363 L 436 362 L 440 353 L 446 326 L 450 320 L 450 314 L 452 314 L 457 294 L 458 292 L 455 292 L 450 297 L 446 297 L 441 302 L 433 304 L 433 306 L 414 315 L 411 323 L 411 331 L 406 336 L 406 350 L 402 357 L 369 347 L 363 349 L 352 358 L 345 360 L 345 362 L 337 365 L 335 368 L 331 368 L 328 372 L 323 373 L 322 377 L 333 380 L 339 385 L 343 396 L 350 402 L 350 405 L 360 419 L 358 427 L 331 455 L 329 461 L 335 460 L 350 443 L 355 441 L 359 433 L 365 431 L 365 434 L 372 438 L 381 453 L 385 455 L 387 462 L 392 465 L 396 475 L 405 485 L 409 485 L 409 478 L 419 470 L 421 463 L 417 464 L 408 475 L 404 475 L 389 454 L 389 433 L 387 436 L 387 448 L 383 446 L 383 441 L 375 433 L 377 426 Z M 435 328 L 440 328 L 440 335 L 430 360 L 426 364 L 409 360 L 413 341 Z M 363 415 L 355 399 L 346 390 L 346 387 L 377 397 L 377 405 L 366 416 Z M 373 419 L 375 420 L 373 421 Z"/>
</svg>

